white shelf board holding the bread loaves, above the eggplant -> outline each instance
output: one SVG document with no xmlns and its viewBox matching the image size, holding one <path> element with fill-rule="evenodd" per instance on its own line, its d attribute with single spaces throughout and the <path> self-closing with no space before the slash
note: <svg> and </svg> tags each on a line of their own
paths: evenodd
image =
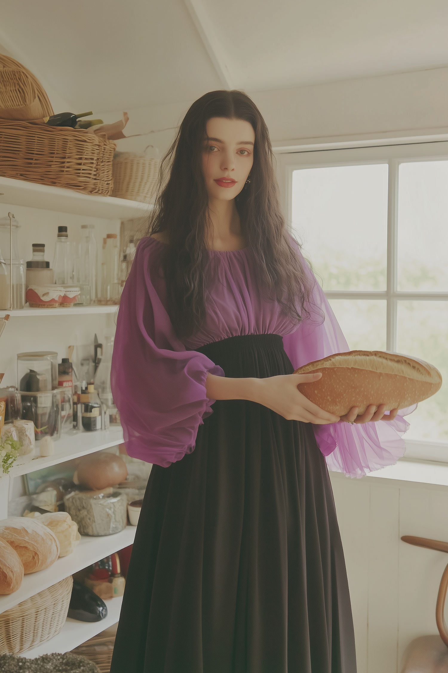
<svg viewBox="0 0 448 673">
<path fill-rule="evenodd" d="M 38 573 L 25 575 L 19 589 L 9 596 L 0 596 L 0 613 L 13 608 L 34 594 L 56 584 L 64 577 L 69 577 L 73 573 L 103 559 L 109 554 L 113 554 L 119 549 L 123 549 L 133 544 L 136 532 L 136 526 L 126 526 L 121 533 L 115 535 L 106 535 L 98 538 L 81 537 L 75 551 L 58 559 L 46 570 L 40 570 Z M 106 628 L 106 627 L 104 627 Z M 72 645 L 70 649 L 76 647 Z"/>
</svg>

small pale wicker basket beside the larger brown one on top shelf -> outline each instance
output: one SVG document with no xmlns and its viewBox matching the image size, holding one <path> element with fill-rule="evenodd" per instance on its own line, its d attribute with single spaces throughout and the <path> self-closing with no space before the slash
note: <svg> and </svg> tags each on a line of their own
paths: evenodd
<svg viewBox="0 0 448 673">
<path fill-rule="evenodd" d="M 133 152 L 117 152 L 112 172 L 113 197 L 149 203 L 159 177 L 159 160 Z"/>
</svg>

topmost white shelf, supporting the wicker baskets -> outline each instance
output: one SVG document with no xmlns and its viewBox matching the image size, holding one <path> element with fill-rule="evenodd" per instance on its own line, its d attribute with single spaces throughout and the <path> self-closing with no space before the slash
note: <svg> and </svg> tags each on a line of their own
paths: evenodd
<svg viewBox="0 0 448 673">
<path fill-rule="evenodd" d="M 105 219 L 144 217 L 152 209 L 152 205 L 139 201 L 81 194 L 71 189 L 13 180 L 3 176 L 0 176 L 0 194 L 0 205 L 7 203 Z"/>
</svg>

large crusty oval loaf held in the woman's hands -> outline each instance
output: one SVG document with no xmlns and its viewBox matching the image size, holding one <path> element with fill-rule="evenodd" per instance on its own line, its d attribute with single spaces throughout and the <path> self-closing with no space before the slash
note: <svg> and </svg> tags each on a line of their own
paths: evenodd
<svg viewBox="0 0 448 673">
<path fill-rule="evenodd" d="M 322 372 L 315 383 L 298 388 L 308 400 L 337 416 L 352 406 L 363 414 L 369 404 L 405 409 L 435 394 L 442 385 L 438 369 L 427 362 L 384 351 L 335 353 L 296 369 L 294 374 Z"/>
</svg>

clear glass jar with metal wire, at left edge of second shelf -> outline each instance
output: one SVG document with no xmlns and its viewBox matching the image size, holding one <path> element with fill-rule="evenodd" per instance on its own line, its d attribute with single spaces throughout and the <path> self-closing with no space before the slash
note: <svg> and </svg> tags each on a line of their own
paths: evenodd
<svg viewBox="0 0 448 673">
<path fill-rule="evenodd" d="M 11 254 L 9 240 L 9 217 L 0 218 L 0 308 L 24 308 L 25 306 L 25 264 L 24 260 L 19 258 L 19 248 L 17 246 L 17 232 L 20 228 L 19 222 L 15 217 L 11 218 L 11 248 L 12 248 L 12 306 L 11 306 Z M 1 264 L 5 264 L 6 292 L 1 283 L 3 279 L 3 269 Z"/>
</svg>

